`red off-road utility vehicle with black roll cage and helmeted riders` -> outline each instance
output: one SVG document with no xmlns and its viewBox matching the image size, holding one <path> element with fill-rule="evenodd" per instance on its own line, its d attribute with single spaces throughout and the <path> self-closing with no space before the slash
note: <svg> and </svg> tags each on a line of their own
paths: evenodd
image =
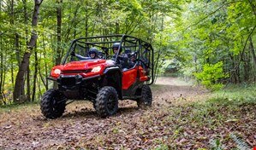
<svg viewBox="0 0 256 150">
<path fill-rule="evenodd" d="M 96 56 L 90 58 L 90 50 Z M 116 52 L 117 51 L 117 52 Z M 116 54 L 115 54 L 116 52 Z M 74 39 L 59 66 L 48 79 L 57 82 L 41 99 L 46 118 L 58 118 L 76 100 L 92 101 L 100 117 L 116 113 L 118 100 L 152 105 L 153 49 L 150 43 L 128 35 Z"/>
</svg>

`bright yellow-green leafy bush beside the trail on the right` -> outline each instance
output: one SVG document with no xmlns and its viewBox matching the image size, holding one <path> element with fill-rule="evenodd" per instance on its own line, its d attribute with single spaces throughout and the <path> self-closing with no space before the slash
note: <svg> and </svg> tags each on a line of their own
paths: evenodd
<svg viewBox="0 0 256 150">
<path fill-rule="evenodd" d="M 221 78 L 226 78 L 227 75 L 223 72 L 223 62 L 217 62 L 216 64 L 205 64 L 202 72 L 195 72 L 194 76 L 201 81 L 201 84 L 206 88 L 217 90 L 223 87 L 223 84 L 218 83 Z"/>
</svg>

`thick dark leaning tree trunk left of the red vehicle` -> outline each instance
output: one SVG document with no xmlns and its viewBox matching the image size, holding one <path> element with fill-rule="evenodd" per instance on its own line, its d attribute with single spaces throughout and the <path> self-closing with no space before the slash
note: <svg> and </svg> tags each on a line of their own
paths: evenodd
<svg viewBox="0 0 256 150">
<path fill-rule="evenodd" d="M 36 27 L 38 25 L 38 17 L 39 17 L 39 8 L 40 4 L 43 0 L 34 0 L 34 9 L 33 9 L 33 17 L 32 17 L 32 26 Z M 24 76 L 28 67 L 28 62 L 30 55 L 32 53 L 33 47 L 35 46 L 37 40 L 37 32 L 33 30 L 29 43 L 27 45 L 27 51 L 24 53 L 21 65 L 19 67 L 19 71 L 15 80 L 15 90 L 14 90 L 14 102 L 19 103 L 24 101 L 24 93 L 22 93 L 23 85 L 24 85 Z"/>
</svg>

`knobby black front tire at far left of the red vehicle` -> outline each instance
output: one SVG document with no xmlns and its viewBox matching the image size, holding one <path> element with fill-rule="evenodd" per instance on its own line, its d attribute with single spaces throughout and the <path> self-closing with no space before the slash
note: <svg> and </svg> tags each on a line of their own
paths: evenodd
<svg viewBox="0 0 256 150">
<path fill-rule="evenodd" d="M 41 112 L 46 118 L 59 118 L 65 111 L 66 101 L 66 97 L 57 89 L 49 89 L 42 96 Z"/>
</svg>

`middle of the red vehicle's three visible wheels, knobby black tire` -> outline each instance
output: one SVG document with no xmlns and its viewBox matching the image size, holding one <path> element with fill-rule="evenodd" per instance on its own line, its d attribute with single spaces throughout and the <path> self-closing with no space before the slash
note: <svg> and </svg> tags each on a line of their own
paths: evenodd
<svg viewBox="0 0 256 150">
<path fill-rule="evenodd" d="M 98 115 L 102 118 L 115 114 L 118 109 L 116 89 L 111 86 L 105 86 L 100 89 L 94 107 Z"/>
</svg>

